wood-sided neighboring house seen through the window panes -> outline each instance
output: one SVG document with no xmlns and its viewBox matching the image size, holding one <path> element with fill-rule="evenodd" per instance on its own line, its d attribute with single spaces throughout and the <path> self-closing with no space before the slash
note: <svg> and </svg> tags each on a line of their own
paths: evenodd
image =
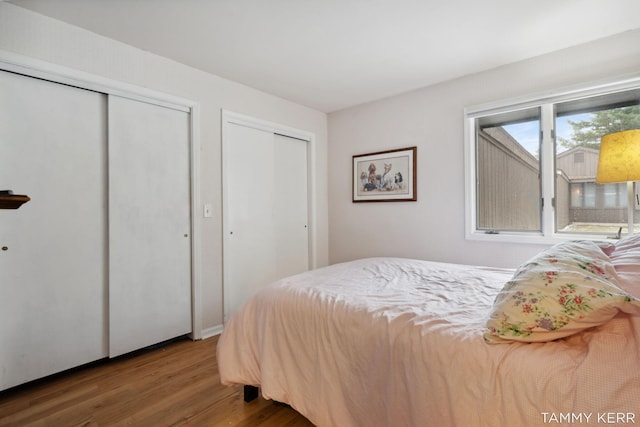
<svg viewBox="0 0 640 427">
<path fill-rule="evenodd" d="M 502 127 L 481 129 L 478 141 L 479 228 L 539 230 L 538 159 Z M 626 223 L 626 184 L 596 185 L 598 153 L 575 147 L 556 155 L 558 230 Z"/>
</svg>

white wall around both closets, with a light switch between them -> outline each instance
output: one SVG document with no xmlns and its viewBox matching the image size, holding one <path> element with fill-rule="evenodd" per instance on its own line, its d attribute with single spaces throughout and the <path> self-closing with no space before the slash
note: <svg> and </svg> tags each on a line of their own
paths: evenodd
<svg viewBox="0 0 640 427">
<path fill-rule="evenodd" d="M 204 73 L 20 7 L 0 2 L 0 50 L 146 87 L 200 105 L 201 195 L 213 218 L 202 220 L 202 325 L 222 324 L 221 109 L 316 135 L 316 263 L 328 263 L 327 118 L 324 113 Z M 200 214 L 201 212 L 198 212 Z"/>
</svg>

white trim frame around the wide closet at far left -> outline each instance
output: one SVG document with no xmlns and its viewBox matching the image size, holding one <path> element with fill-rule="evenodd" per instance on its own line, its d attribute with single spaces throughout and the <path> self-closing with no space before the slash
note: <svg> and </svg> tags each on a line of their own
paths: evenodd
<svg viewBox="0 0 640 427">
<path fill-rule="evenodd" d="M 202 220 L 200 197 L 200 106 L 197 102 L 111 80 L 84 71 L 67 68 L 0 49 L 0 70 L 54 83 L 88 89 L 106 95 L 117 95 L 189 113 L 190 131 L 190 192 L 191 192 L 191 338 L 201 339 L 202 331 Z"/>
</svg>

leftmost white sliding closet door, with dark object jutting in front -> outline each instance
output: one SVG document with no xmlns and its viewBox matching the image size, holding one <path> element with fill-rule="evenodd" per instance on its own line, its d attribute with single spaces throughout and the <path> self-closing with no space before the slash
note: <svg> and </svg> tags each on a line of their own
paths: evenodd
<svg viewBox="0 0 640 427">
<path fill-rule="evenodd" d="M 106 108 L 0 71 L 0 389 L 107 356 Z"/>
</svg>

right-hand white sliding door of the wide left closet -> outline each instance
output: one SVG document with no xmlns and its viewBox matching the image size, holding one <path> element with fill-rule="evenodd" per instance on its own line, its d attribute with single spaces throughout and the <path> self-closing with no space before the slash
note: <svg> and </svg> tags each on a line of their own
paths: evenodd
<svg viewBox="0 0 640 427">
<path fill-rule="evenodd" d="M 109 96 L 109 354 L 191 332 L 189 113 Z"/>
</svg>

